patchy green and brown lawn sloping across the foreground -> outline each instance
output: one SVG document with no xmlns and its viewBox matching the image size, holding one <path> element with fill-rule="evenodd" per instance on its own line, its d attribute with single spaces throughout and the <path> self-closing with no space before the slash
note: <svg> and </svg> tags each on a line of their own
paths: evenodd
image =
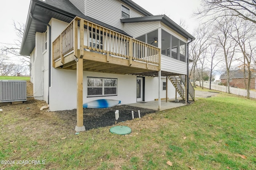
<svg viewBox="0 0 256 170">
<path fill-rule="evenodd" d="M 45 161 L 6 169 L 256 169 L 256 100 L 231 94 L 121 123 L 132 128 L 129 135 L 112 134 L 110 127 L 74 135 L 68 120 L 54 114 L 4 109 L 0 160 Z"/>
</svg>

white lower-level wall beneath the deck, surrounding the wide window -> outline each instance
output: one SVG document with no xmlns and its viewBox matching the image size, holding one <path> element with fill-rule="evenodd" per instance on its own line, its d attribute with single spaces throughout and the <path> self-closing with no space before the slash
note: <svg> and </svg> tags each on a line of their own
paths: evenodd
<svg viewBox="0 0 256 170">
<path fill-rule="evenodd" d="M 50 110 L 66 110 L 76 108 L 76 70 L 52 70 L 52 86 L 50 88 Z M 116 78 L 116 96 L 87 96 L 87 77 L 95 78 Z M 162 81 L 166 81 L 162 78 Z M 83 103 L 98 99 L 121 100 L 121 104 L 136 103 L 136 82 L 137 76 L 120 75 L 99 72 L 83 72 Z M 166 91 L 160 87 L 161 98 L 165 98 Z M 175 88 L 168 80 L 168 98 L 175 98 Z M 158 78 L 145 77 L 145 101 L 158 99 Z"/>
</svg>

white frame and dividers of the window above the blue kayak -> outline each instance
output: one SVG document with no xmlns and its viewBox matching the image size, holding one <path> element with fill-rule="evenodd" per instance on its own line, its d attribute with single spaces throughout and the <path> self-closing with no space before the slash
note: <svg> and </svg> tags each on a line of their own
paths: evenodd
<svg viewBox="0 0 256 170">
<path fill-rule="evenodd" d="M 87 83 L 87 97 L 99 97 L 99 96 L 117 96 L 117 83 L 118 79 L 117 78 L 98 78 L 98 77 L 87 77 L 87 82 L 88 79 L 101 79 L 102 80 L 102 86 L 88 86 Z M 105 80 L 116 80 L 116 86 L 105 86 Z M 95 94 L 95 95 L 88 95 L 88 88 L 102 88 L 102 94 Z M 105 88 L 116 88 L 116 94 L 104 94 L 104 89 Z"/>
</svg>

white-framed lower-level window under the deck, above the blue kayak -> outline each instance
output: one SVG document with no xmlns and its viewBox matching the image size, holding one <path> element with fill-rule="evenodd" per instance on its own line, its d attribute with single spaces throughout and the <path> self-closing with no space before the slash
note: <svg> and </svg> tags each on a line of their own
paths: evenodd
<svg viewBox="0 0 256 170">
<path fill-rule="evenodd" d="M 117 95 L 116 78 L 87 78 L 87 96 Z"/>
</svg>

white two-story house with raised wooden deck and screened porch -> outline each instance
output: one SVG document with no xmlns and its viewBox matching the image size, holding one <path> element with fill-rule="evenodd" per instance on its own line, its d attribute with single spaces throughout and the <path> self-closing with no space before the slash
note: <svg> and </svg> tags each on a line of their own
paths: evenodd
<svg viewBox="0 0 256 170">
<path fill-rule="evenodd" d="M 160 109 L 176 90 L 194 99 L 187 81 L 193 39 L 131 0 L 31 0 L 20 54 L 31 58 L 35 98 L 51 111 L 77 108 L 81 131 L 82 104 L 92 100 L 158 99 Z M 167 78 L 174 85 L 166 88 Z"/>
</svg>

